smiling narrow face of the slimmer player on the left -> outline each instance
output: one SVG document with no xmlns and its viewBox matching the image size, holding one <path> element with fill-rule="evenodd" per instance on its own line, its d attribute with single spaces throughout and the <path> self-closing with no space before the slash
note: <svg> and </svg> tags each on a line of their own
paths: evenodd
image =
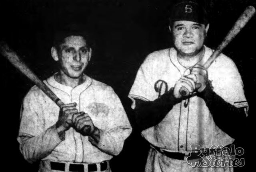
<svg viewBox="0 0 256 172">
<path fill-rule="evenodd" d="M 69 36 L 59 46 L 57 54 L 60 70 L 70 78 L 80 78 L 90 60 L 91 49 L 82 36 Z"/>
</svg>

